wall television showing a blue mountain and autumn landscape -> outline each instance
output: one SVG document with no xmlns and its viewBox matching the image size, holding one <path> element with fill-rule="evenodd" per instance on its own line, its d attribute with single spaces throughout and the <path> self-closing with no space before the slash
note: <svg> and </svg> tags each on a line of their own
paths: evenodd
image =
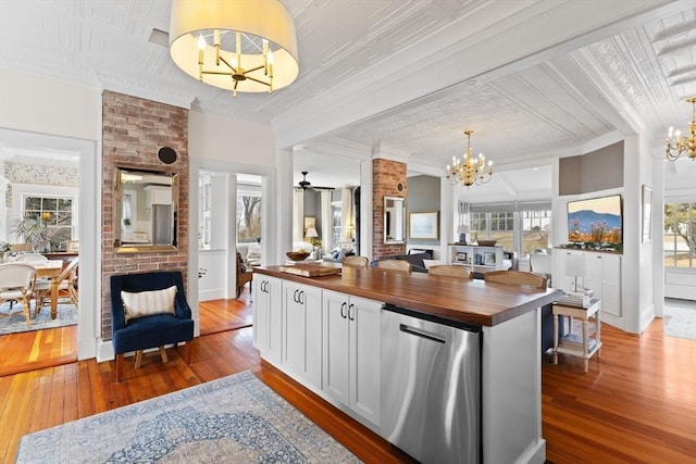
<svg viewBox="0 0 696 464">
<path fill-rule="evenodd" d="M 623 243 L 623 202 L 620 195 L 568 202 L 568 241 Z"/>
</svg>

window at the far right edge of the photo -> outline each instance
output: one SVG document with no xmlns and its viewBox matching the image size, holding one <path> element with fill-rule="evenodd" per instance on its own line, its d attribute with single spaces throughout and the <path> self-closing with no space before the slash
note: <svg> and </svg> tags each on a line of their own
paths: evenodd
<svg viewBox="0 0 696 464">
<path fill-rule="evenodd" d="M 664 266 L 696 267 L 696 203 L 664 203 Z"/>
</svg>

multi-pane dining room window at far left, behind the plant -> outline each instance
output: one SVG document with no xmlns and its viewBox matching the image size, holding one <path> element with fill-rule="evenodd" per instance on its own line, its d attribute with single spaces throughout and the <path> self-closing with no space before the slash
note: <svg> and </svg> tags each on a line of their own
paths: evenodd
<svg viewBox="0 0 696 464">
<path fill-rule="evenodd" d="M 73 198 L 24 197 L 23 217 L 44 227 L 40 241 L 46 251 L 65 251 L 73 238 Z"/>
</svg>

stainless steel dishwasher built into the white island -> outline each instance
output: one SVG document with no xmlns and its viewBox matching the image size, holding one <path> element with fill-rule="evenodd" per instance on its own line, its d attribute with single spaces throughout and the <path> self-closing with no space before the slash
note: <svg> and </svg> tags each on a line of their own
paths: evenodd
<svg viewBox="0 0 696 464">
<path fill-rule="evenodd" d="M 481 327 L 385 305 L 381 435 L 423 463 L 481 463 Z"/>
</svg>

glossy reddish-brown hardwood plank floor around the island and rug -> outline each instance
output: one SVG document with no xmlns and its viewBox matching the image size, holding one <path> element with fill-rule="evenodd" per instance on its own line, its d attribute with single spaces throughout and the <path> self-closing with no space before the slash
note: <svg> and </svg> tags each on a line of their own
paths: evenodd
<svg viewBox="0 0 696 464">
<path fill-rule="evenodd" d="M 210 304 L 224 311 L 236 306 L 223 301 Z M 548 461 L 696 463 L 696 340 L 664 337 L 658 319 L 639 337 L 602 325 L 602 342 L 601 359 L 591 361 L 587 374 L 581 360 L 568 356 L 559 365 L 543 365 L 543 435 Z M 2 352 L 7 350 L 17 352 L 3 340 Z M 169 351 L 167 364 L 157 353 L 146 356 L 138 371 L 127 362 L 122 384 L 113 381 L 113 363 L 95 360 L 0 377 L 0 462 L 14 461 L 18 441 L 27 432 L 245 369 L 254 372 L 362 461 L 409 461 L 262 364 L 251 347 L 251 328 L 201 336 L 188 366 L 183 349 L 181 356 Z"/>
</svg>

